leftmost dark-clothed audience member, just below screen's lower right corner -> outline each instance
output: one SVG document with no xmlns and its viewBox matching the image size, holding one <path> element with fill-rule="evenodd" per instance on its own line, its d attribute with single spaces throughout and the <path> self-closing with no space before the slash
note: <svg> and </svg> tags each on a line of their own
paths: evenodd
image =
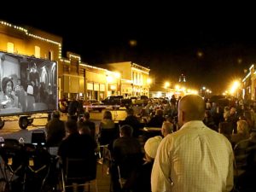
<svg viewBox="0 0 256 192">
<path fill-rule="evenodd" d="M 51 113 L 51 119 L 45 125 L 46 144 L 49 147 L 58 147 L 66 135 L 65 123 L 60 119 L 61 113 L 57 110 Z"/>
</svg>

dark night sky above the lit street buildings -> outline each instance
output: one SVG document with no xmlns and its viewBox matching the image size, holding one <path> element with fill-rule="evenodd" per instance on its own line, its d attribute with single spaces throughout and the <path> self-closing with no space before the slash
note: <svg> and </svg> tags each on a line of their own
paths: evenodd
<svg viewBox="0 0 256 192">
<path fill-rule="evenodd" d="M 191 87 L 223 91 L 256 61 L 256 16 L 239 5 L 68 5 L 12 15 L 2 11 L 0 19 L 61 36 L 62 55 L 73 51 L 90 65 L 133 61 L 150 67 L 156 82 L 175 84 L 184 73 Z"/>
</svg>

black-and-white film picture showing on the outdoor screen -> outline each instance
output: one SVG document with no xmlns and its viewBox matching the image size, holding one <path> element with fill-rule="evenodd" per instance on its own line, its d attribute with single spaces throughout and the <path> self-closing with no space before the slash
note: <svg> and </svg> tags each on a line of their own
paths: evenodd
<svg viewBox="0 0 256 192">
<path fill-rule="evenodd" d="M 57 108 L 54 61 L 0 52 L 0 114 L 38 113 Z"/>
</svg>

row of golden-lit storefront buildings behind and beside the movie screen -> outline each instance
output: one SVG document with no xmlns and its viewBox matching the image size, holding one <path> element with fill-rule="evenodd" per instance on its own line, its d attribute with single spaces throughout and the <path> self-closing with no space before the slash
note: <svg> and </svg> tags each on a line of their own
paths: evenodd
<svg viewBox="0 0 256 192">
<path fill-rule="evenodd" d="M 84 100 L 102 100 L 111 95 L 149 96 L 148 68 L 132 62 L 94 67 L 82 62 L 75 53 L 67 52 L 67 57 L 63 57 L 61 49 L 61 37 L 0 20 L 0 50 L 57 61 L 59 98 L 79 96 Z M 51 78 L 50 74 L 48 76 L 46 79 Z"/>
</svg>

